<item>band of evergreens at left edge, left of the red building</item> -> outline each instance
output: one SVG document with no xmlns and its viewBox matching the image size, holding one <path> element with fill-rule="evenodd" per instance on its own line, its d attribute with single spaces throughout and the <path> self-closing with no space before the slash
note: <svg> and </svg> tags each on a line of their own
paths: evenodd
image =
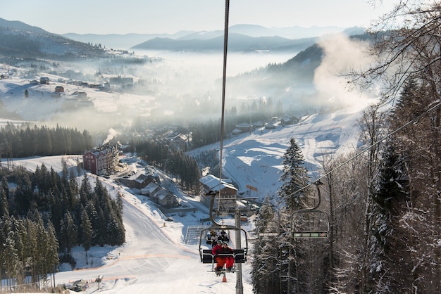
<svg viewBox="0 0 441 294">
<path fill-rule="evenodd" d="M 84 130 L 29 123 L 8 122 L 0 128 L 0 158 L 24 158 L 61 154 L 82 154 L 92 148 L 92 136 Z"/>
</svg>

